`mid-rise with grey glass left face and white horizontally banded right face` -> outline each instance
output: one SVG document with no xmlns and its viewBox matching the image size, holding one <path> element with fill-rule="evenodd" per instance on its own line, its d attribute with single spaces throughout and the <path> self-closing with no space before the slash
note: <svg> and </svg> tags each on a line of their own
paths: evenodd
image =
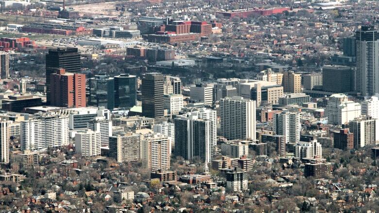
<svg viewBox="0 0 379 213">
<path fill-rule="evenodd" d="M 213 103 L 213 87 L 204 83 L 189 87 L 190 97 L 193 101 L 204 102 L 204 105 L 211 106 Z"/>
</svg>

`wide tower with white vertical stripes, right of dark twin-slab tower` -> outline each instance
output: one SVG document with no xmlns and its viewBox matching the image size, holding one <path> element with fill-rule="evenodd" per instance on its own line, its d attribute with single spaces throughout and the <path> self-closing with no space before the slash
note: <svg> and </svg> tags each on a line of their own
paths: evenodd
<svg viewBox="0 0 379 213">
<path fill-rule="evenodd" d="M 228 140 L 255 140 L 256 102 L 234 96 L 220 100 L 221 134 Z"/>
</svg>

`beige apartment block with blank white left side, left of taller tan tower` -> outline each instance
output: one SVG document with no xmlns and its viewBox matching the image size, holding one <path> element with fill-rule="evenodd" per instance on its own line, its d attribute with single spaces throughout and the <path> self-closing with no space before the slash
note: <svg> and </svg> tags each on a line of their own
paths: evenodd
<svg viewBox="0 0 379 213">
<path fill-rule="evenodd" d="M 109 157 L 118 163 L 138 162 L 140 160 L 140 135 L 121 132 L 109 137 Z"/>
</svg>

